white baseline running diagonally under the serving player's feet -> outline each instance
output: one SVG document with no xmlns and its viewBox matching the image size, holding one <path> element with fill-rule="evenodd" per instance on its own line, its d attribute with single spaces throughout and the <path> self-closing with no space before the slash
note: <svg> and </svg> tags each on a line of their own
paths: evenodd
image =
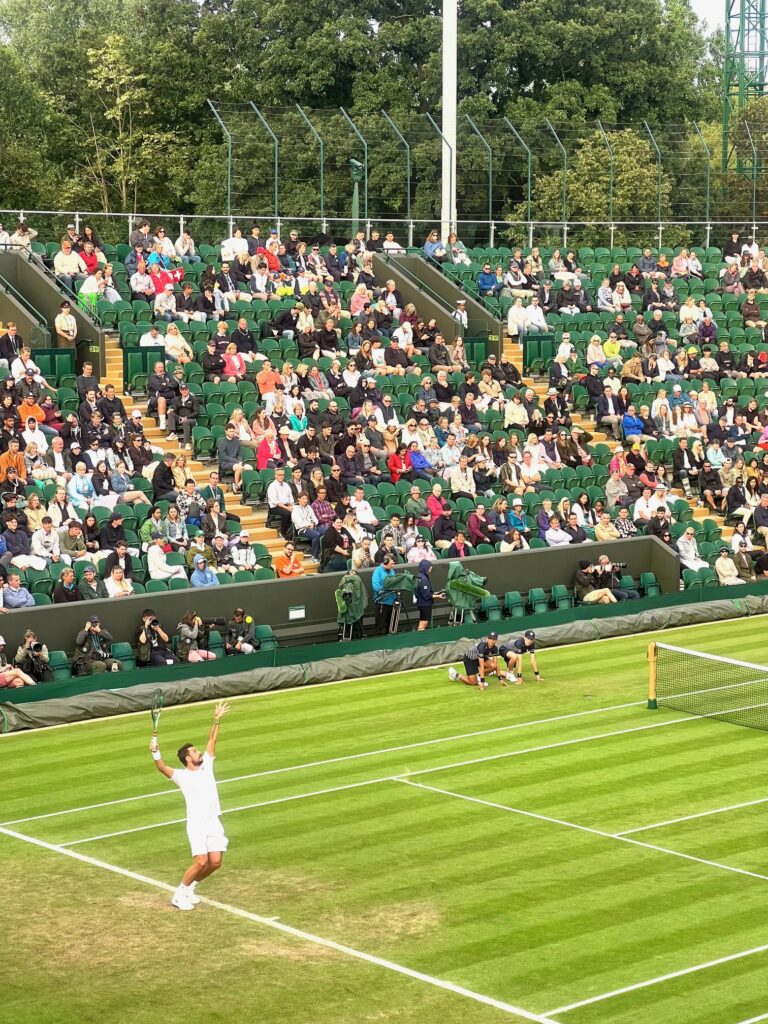
<svg viewBox="0 0 768 1024">
<path fill-rule="evenodd" d="M 136 871 L 129 871 L 127 868 L 118 867 L 116 864 L 110 864 L 105 860 L 96 860 L 95 858 L 88 857 L 82 853 L 76 853 L 74 850 L 66 850 L 63 847 L 56 846 L 53 843 L 44 843 L 42 840 L 34 839 L 31 836 L 25 836 L 23 833 L 13 831 L 9 828 L 0 827 L 0 834 L 7 836 L 10 839 L 19 840 L 23 843 L 30 843 L 32 846 L 40 847 L 43 850 L 50 851 L 51 853 L 59 853 L 66 857 L 72 857 L 73 859 L 79 860 L 84 864 L 89 864 L 91 867 L 99 867 L 101 870 L 111 871 L 113 874 L 120 874 L 123 878 L 131 879 L 133 882 L 140 882 L 143 885 L 153 886 L 155 889 L 161 889 L 166 893 L 174 892 L 174 886 L 168 885 L 166 882 L 160 882 L 158 879 L 151 879 L 146 874 L 139 874 Z M 250 910 L 244 910 L 241 907 L 232 906 L 229 903 L 222 903 L 219 900 L 207 899 L 205 896 L 200 896 L 200 902 L 207 906 L 214 907 L 217 910 L 222 910 L 225 913 L 230 913 L 236 918 L 244 918 L 246 921 L 253 922 L 256 925 L 263 925 L 265 928 L 272 928 L 278 932 L 283 932 L 284 935 L 291 935 L 293 938 L 301 939 L 304 942 L 311 942 L 316 946 L 325 946 L 327 949 L 334 949 L 336 952 L 343 953 L 345 956 L 352 956 L 354 959 L 364 961 L 367 964 L 383 968 L 386 971 L 393 971 L 396 974 L 404 975 L 404 977 L 412 978 L 415 981 L 424 982 L 434 988 L 441 988 L 444 991 L 453 992 L 455 995 L 462 995 L 464 998 L 472 999 L 474 1002 L 481 1002 L 487 1007 L 494 1007 L 496 1010 L 503 1010 L 505 1013 L 515 1014 L 516 1016 L 523 1018 L 523 1020 L 534 1021 L 535 1024 L 557 1024 L 557 1022 L 552 1021 L 550 1018 L 544 1017 L 541 1014 L 529 1013 L 527 1010 L 522 1010 L 520 1007 L 514 1007 L 509 1002 L 503 1002 L 501 999 L 495 999 L 490 995 L 483 995 L 480 992 L 474 992 L 472 989 L 464 988 L 462 985 L 455 985 L 453 982 L 445 981 L 442 978 L 434 978 L 429 974 L 422 973 L 421 971 L 414 971 L 412 968 L 403 967 L 401 964 L 395 964 L 393 961 L 384 959 L 381 956 L 374 956 L 372 953 L 364 952 L 360 949 L 354 949 L 341 942 L 334 942 L 332 939 L 325 939 L 319 935 L 312 935 L 310 932 L 304 932 L 299 928 L 284 925 L 283 922 L 274 918 L 262 918 L 257 913 L 252 913 Z"/>
</svg>

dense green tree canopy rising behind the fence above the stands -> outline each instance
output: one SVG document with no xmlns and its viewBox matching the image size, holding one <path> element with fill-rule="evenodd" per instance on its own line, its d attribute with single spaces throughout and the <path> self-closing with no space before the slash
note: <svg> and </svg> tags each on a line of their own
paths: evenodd
<svg viewBox="0 0 768 1024">
<path fill-rule="evenodd" d="M 306 0 L 300 11 L 288 0 L 0 0 L 2 205 L 225 212 L 225 150 L 211 97 L 327 112 L 331 211 L 348 207 L 345 163 L 359 157 L 338 113 L 345 108 L 376 140 L 373 216 L 403 213 L 403 150 L 382 128 L 378 112 L 387 111 L 414 150 L 413 212 L 430 216 L 439 204 L 439 142 L 424 114 L 439 124 L 440 10 L 430 0 Z M 586 173 L 601 163 L 598 119 L 606 126 L 717 119 L 718 59 L 689 0 L 460 5 L 461 109 L 486 121 L 507 116 L 535 139 L 547 118 L 578 129 Z M 314 215 L 314 141 L 295 116 L 274 118 L 285 132 L 284 212 Z M 467 139 L 459 207 L 484 216 L 485 157 Z M 268 215 L 268 137 L 252 119 L 233 147 L 240 206 Z M 500 213 L 521 200 L 521 154 L 514 142 L 508 148 L 498 156 L 506 173 L 497 175 Z M 644 162 L 646 151 L 643 143 Z M 540 164 L 544 175 L 557 161 Z M 559 209 L 557 196 L 553 178 L 539 205 Z"/>
</svg>

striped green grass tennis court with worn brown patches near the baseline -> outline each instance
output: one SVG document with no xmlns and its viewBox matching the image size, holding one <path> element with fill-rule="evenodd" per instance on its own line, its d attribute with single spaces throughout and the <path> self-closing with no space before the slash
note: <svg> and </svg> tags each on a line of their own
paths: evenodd
<svg viewBox="0 0 768 1024">
<path fill-rule="evenodd" d="M 765 622 L 659 638 L 764 664 Z M 538 687 L 236 699 L 229 852 L 186 914 L 147 714 L 3 737 L 4 1019 L 768 1020 L 768 738 L 648 711 L 648 639 L 542 649 Z M 210 717 L 164 712 L 169 763 Z"/>
</svg>

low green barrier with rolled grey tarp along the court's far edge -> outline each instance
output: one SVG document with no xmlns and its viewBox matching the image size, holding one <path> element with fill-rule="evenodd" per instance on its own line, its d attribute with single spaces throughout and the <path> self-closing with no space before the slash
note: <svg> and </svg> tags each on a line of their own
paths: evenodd
<svg viewBox="0 0 768 1024">
<path fill-rule="evenodd" d="M 505 620 L 494 624 L 494 628 L 499 629 L 502 636 L 536 629 L 542 646 L 551 647 L 768 613 L 768 596 L 750 594 L 750 590 L 744 587 L 738 597 L 730 599 L 720 597 L 722 590 L 713 591 L 720 599 L 697 604 L 687 603 L 689 595 L 681 593 L 618 606 L 571 608 L 547 615 Z M 616 613 L 616 608 L 627 613 Z M 199 674 L 200 666 L 146 669 L 131 673 L 130 679 L 121 678 L 119 689 L 104 689 L 103 676 L 47 683 L 34 689 L 9 691 L 6 702 L 0 707 L 7 718 L 9 731 L 16 731 L 146 711 L 152 691 L 158 685 L 163 688 L 166 707 L 170 707 L 406 672 L 459 660 L 470 640 L 482 636 L 488 628 L 482 623 L 465 624 L 455 629 L 374 637 L 344 645 L 284 648 L 208 663 L 205 676 Z"/>
</svg>

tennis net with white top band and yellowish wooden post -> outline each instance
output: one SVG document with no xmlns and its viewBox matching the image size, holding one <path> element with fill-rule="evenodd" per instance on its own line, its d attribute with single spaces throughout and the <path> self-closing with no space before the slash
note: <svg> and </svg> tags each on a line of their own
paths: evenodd
<svg viewBox="0 0 768 1024">
<path fill-rule="evenodd" d="M 768 730 L 768 666 L 651 643 L 648 707 Z"/>
</svg>

